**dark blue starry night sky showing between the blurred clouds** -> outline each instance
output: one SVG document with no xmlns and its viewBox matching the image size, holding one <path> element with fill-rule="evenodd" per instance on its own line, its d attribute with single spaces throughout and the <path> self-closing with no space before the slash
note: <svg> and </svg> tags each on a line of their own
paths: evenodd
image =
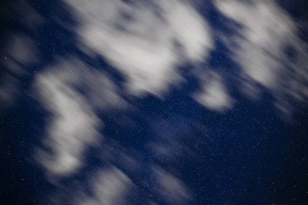
<svg viewBox="0 0 308 205">
<path fill-rule="evenodd" d="M 308 24 L 302 8 L 306 4 L 282 2 L 282 8 L 293 20 L 304 25 L 299 35 L 305 42 Z M 208 109 L 191 97 L 191 93 L 202 90 L 202 83 L 193 72 L 195 64 L 179 66 L 185 83 L 180 87 L 170 85 L 162 98 L 150 93 L 142 97 L 129 95 L 125 88 L 128 77 L 99 52 L 93 50 L 95 58 L 89 56 L 80 48 L 79 35 L 59 23 L 60 19 L 72 28 L 81 24 L 67 3 L 1 4 L 0 82 L 5 88 L 4 82 L 13 76 L 9 84 L 16 83 L 18 91 L 10 90 L 9 103 L 0 104 L 0 204 L 78 204 L 79 193 L 95 198 L 89 179 L 95 178 L 98 170 L 115 168 L 133 184 L 123 204 L 307 203 L 306 101 L 299 103 L 287 98 L 292 114 L 283 115 L 274 106 L 276 93 L 270 89 L 257 85 L 262 95 L 256 101 L 241 93 L 238 89 L 241 65 L 230 57 L 232 51 L 221 38 L 221 34 L 236 34 L 241 25 L 223 16 L 210 1 L 199 3 L 196 9 L 213 29 L 215 49 L 198 69 L 207 75 L 210 68 L 223 76 L 235 104 L 221 112 Z M 35 29 L 22 23 L 33 11 L 45 19 Z M 7 48 L 12 46 L 8 42 L 13 34 L 29 36 L 37 48 L 32 52 L 39 57 L 23 64 L 10 56 Z M 290 46 L 290 49 L 295 47 Z M 290 59 L 294 53 L 286 51 Z M 42 144 L 42 138 L 48 136 L 46 128 L 54 113 L 37 98 L 33 82 L 37 73 L 52 70 L 58 59 L 68 56 L 105 72 L 117 94 L 131 108 L 95 110 L 95 115 L 103 121 L 97 128 L 103 137 L 95 142 L 97 146 L 89 146 L 83 153 L 82 167 L 73 174 L 59 176 L 35 159 L 40 149 L 53 152 Z M 26 70 L 26 74 L 12 72 L 4 60 L 8 58 Z M 288 63 L 281 61 L 286 67 Z M 74 89 L 91 104 L 90 88 L 85 84 Z M 307 81 L 303 84 L 307 86 Z M 159 145 L 164 152 L 153 149 L 152 145 Z M 133 159 L 133 166 L 125 156 Z M 162 194 L 163 185 L 157 178 L 165 172 L 179 179 L 188 194 L 173 199 L 170 199 L 172 192 Z M 124 198 L 124 194 L 119 197 Z"/>
</svg>

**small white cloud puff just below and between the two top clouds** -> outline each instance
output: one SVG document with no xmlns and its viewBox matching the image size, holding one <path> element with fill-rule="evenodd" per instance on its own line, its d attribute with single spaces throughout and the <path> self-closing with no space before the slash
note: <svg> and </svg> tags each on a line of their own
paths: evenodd
<svg viewBox="0 0 308 205">
<path fill-rule="evenodd" d="M 234 104 L 233 99 L 227 93 L 220 75 L 217 73 L 211 74 L 209 82 L 204 83 L 203 90 L 193 96 L 207 109 L 219 112 L 232 109 Z"/>
</svg>

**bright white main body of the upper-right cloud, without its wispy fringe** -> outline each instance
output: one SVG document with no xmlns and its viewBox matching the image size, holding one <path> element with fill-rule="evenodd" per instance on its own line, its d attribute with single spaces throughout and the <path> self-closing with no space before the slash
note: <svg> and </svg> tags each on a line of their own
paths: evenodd
<svg viewBox="0 0 308 205">
<path fill-rule="evenodd" d="M 224 15 L 244 26 L 239 29 L 243 37 L 234 38 L 239 47 L 232 47 L 234 59 L 241 65 L 243 74 L 267 88 L 274 88 L 283 42 L 294 27 L 290 19 L 269 2 L 216 1 L 216 6 Z"/>
</svg>

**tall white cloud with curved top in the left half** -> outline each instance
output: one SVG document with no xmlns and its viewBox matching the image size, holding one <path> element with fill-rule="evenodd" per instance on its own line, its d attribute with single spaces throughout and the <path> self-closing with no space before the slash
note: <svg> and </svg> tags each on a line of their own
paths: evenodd
<svg viewBox="0 0 308 205">
<path fill-rule="evenodd" d="M 60 61 L 59 69 L 40 73 L 34 83 L 35 96 L 52 113 L 47 125 L 44 145 L 52 152 L 41 150 L 36 159 L 47 173 L 65 176 L 83 165 L 83 154 L 88 146 L 97 144 L 102 121 L 95 109 L 120 109 L 123 100 L 107 77 L 74 59 Z M 86 85 L 86 96 L 78 86 Z"/>
</svg>

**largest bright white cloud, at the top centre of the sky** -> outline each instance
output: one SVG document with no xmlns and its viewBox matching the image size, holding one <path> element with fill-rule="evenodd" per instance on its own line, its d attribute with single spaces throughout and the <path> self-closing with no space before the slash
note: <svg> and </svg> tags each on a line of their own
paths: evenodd
<svg viewBox="0 0 308 205">
<path fill-rule="evenodd" d="M 146 92 L 161 96 L 169 84 L 182 80 L 178 65 L 205 60 L 213 47 L 204 19 L 181 1 L 157 1 L 160 11 L 120 0 L 67 2 L 80 13 L 84 24 L 77 32 L 85 45 L 125 74 L 127 88 L 137 96 Z M 130 17 L 123 17 L 123 12 Z M 182 45 L 181 52 L 175 41 Z"/>
</svg>

